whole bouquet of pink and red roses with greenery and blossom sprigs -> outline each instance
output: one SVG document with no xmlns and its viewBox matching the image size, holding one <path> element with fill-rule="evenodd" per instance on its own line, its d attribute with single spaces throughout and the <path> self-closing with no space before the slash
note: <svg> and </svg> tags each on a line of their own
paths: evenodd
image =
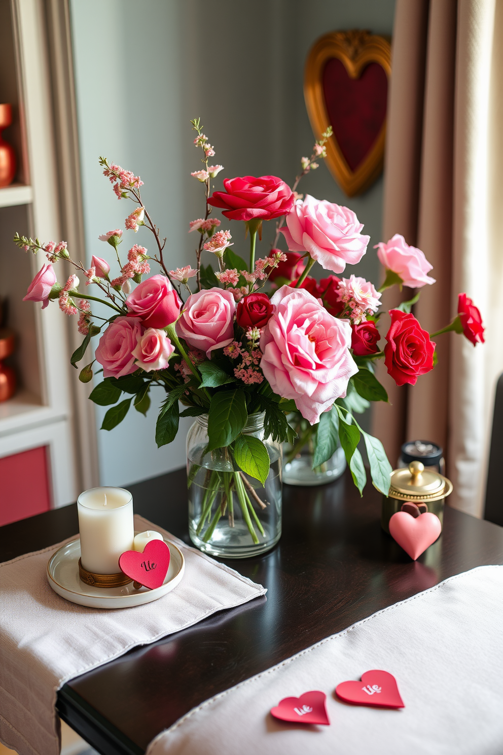
<svg viewBox="0 0 503 755">
<path fill-rule="evenodd" d="M 257 412 L 265 414 L 265 436 L 276 442 L 290 442 L 295 448 L 295 443 L 309 438 L 315 466 L 327 461 L 340 443 L 360 492 L 367 481 L 357 448 L 363 438 L 373 483 L 388 493 L 391 466 L 382 444 L 361 429 L 354 414 L 371 401 L 388 400 L 374 374 L 377 359 L 384 359 L 399 386 L 416 384 L 420 375 L 434 368 L 433 336 L 412 313 L 419 292 L 391 310 L 384 348 L 378 346 L 382 291 L 391 285 L 420 289 L 434 279 L 428 276 L 431 265 L 425 254 L 399 235 L 377 245 L 385 268 L 379 290 L 354 274 L 339 277 L 346 265 L 360 262 L 370 237 L 362 233 L 363 225 L 350 209 L 296 192 L 302 176 L 324 158 L 331 129 L 315 143 L 311 157 L 302 158 L 302 171 L 293 188 L 275 176 L 244 176 L 226 178 L 222 190 L 211 193 L 212 181 L 223 168 L 209 165 L 215 152 L 202 133 L 200 120 L 192 121 L 192 127 L 202 159 L 202 168 L 192 176 L 204 190 L 204 217 L 189 227 L 189 233 L 198 238 L 194 268 L 168 269 L 166 239 L 161 239 L 143 205 L 143 181 L 104 158 L 100 165 L 115 195 L 134 205 L 124 220 L 126 232 L 146 228 L 153 236 L 153 253 L 134 243 L 125 261 L 123 230 L 109 231 L 100 240 L 114 250 L 116 271 L 112 274 L 112 263 L 102 257 L 93 256 L 89 268 L 73 260 L 66 242 L 41 243 L 18 235 L 14 241 L 48 258 L 25 300 L 41 301 L 43 308 L 57 300 L 63 313 L 78 316 L 84 341 L 72 355 L 72 365 L 83 359 L 90 338 L 100 334 L 94 360 L 81 369 L 80 379 L 91 380 L 96 362 L 103 368 L 103 381 L 90 393 L 97 404 L 111 406 L 103 429 L 116 427 L 131 404 L 146 414 L 153 386 L 166 392 L 156 426 L 158 447 L 176 437 L 179 417 L 207 414 L 205 450 L 225 449 L 232 458 L 232 471 L 223 481 L 215 473 L 225 488 L 225 505 L 222 498 L 212 513 L 211 495 L 207 495 L 200 531 L 207 520 L 209 532 L 227 504 L 231 520 L 229 494 L 234 486 L 255 542 L 255 528 L 261 528 L 253 507 L 263 503 L 253 495 L 246 476 L 263 485 L 270 460 L 262 440 L 247 437 L 242 430 L 248 417 Z M 214 209 L 221 210 L 224 218 L 244 223 L 244 235 L 250 239 L 248 262 L 236 253 L 222 220 L 210 217 Z M 269 220 L 276 222 L 275 242 L 267 254 L 256 258 L 262 223 Z M 281 236 L 288 251 L 279 248 Z M 75 268 L 64 285 L 57 282 L 53 267 L 60 260 Z M 143 280 L 151 273 L 152 263 L 158 272 Z M 314 263 L 330 274 L 320 280 L 309 276 Z M 84 290 L 77 273 L 85 279 Z M 89 286 L 98 295 L 89 294 Z M 92 308 L 94 302 L 100 303 L 99 314 Z M 105 307 L 107 317 L 103 316 Z M 464 333 L 473 344 L 483 342 L 479 310 L 466 294 L 459 294 L 458 316 L 437 334 L 449 330 Z M 297 440 L 288 415 L 300 419 Z M 215 481 L 207 479 L 206 488 L 215 488 Z"/>
</svg>

